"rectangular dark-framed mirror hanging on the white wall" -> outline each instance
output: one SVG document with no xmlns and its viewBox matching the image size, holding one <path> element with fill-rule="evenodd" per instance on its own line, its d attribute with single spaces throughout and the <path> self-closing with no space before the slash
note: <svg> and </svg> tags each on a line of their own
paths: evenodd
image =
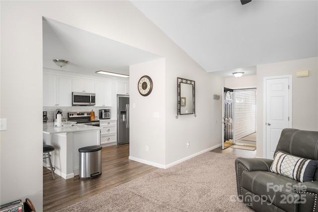
<svg viewBox="0 0 318 212">
<path fill-rule="evenodd" d="M 177 77 L 177 116 L 195 115 L 195 81 Z"/>
</svg>

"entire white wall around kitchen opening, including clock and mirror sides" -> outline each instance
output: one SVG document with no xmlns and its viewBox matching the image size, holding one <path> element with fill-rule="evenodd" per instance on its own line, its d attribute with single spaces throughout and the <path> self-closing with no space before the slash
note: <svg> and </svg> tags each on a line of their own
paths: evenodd
<svg viewBox="0 0 318 212">
<path fill-rule="evenodd" d="M 28 197 L 36 210 L 42 211 L 42 16 L 165 58 L 164 65 L 159 60 L 148 71 L 130 73 L 132 103 L 136 103 L 138 112 L 132 112 L 138 120 L 131 121 L 153 126 L 148 128 L 151 129 L 149 135 L 157 137 L 154 143 L 143 138 L 136 147 L 134 144 L 139 142 L 136 138 L 142 135 L 137 134 L 144 131 L 133 127 L 132 155 L 165 166 L 221 142 L 221 130 L 215 130 L 216 126 L 221 129 L 221 101 L 212 99 L 215 92 L 221 94 L 219 90 L 224 80 L 206 73 L 129 1 L 0 3 L 0 113 L 1 118 L 8 120 L 8 130 L 0 134 L 0 204 Z M 165 72 L 151 72 L 158 71 L 157 65 L 159 71 L 164 66 Z M 144 74 L 151 75 L 154 80 L 154 90 L 149 98 L 136 93 L 136 80 Z M 196 81 L 196 118 L 183 115 L 175 119 L 177 77 Z M 23 113 L 20 113 L 22 105 Z M 148 108 L 146 113 L 140 113 L 142 108 Z M 152 118 L 154 112 L 159 113 L 159 119 Z M 157 128 L 165 133 L 161 134 Z M 191 141 L 189 148 L 186 148 L 187 140 Z M 149 144 L 148 152 L 145 151 L 146 144 Z M 158 154 L 150 155 L 156 150 Z M 23 174 L 12 175 L 14 168 Z"/>
</svg>

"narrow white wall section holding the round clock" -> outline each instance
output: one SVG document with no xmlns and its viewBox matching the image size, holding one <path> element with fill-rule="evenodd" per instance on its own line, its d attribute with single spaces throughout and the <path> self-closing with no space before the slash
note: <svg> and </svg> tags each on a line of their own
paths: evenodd
<svg viewBox="0 0 318 212">
<path fill-rule="evenodd" d="M 165 164 L 165 59 L 130 66 L 129 72 L 129 158 L 162 167 Z M 142 96 L 137 90 L 143 75 L 153 81 L 153 90 L 148 96 Z"/>
</svg>

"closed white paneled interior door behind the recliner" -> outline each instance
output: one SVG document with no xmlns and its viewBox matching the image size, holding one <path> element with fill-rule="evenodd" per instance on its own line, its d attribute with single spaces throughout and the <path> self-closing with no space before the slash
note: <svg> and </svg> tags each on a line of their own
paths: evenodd
<svg viewBox="0 0 318 212">
<path fill-rule="evenodd" d="M 291 127 L 291 77 L 265 81 L 265 157 L 272 159 L 282 130 Z"/>
</svg>

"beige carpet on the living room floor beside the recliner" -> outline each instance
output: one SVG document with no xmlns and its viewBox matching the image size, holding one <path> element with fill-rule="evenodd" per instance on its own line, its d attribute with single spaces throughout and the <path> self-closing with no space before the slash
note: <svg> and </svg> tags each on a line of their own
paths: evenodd
<svg viewBox="0 0 318 212">
<path fill-rule="evenodd" d="M 235 158 L 206 152 L 59 212 L 251 212 L 237 199 Z"/>
</svg>

